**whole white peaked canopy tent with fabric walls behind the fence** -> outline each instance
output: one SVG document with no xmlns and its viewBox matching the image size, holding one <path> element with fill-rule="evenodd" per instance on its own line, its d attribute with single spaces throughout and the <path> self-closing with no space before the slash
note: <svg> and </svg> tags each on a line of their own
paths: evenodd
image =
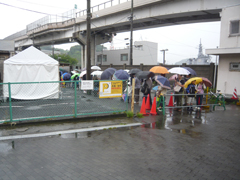
<svg viewBox="0 0 240 180">
<path fill-rule="evenodd" d="M 31 46 L 5 60 L 3 67 L 3 82 L 14 83 L 11 84 L 11 98 L 30 100 L 59 97 L 59 83 L 40 83 L 59 81 L 59 63 L 35 47 Z M 5 98 L 9 97 L 7 85 L 4 85 L 3 94 Z"/>
</svg>

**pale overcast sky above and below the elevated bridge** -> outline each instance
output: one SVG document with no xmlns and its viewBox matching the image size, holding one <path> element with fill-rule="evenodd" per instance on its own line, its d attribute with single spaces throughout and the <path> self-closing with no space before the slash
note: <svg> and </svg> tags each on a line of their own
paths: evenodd
<svg viewBox="0 0 240 180">
<path fill-rule="evenodd" d="M 106 1 L 107 0 L 92 0 L 91 5 L 94 6 Z M 73 9 L 75 4 L 77 4 L 78 10 L 86 9 L 86 2 L 87 0 L 1 0 L 0 3 L 3 4 L 0 4 L 0 39 L 25 29 L 26 25 L 45 17 L 46 14 L 66 12 Z M 25 10 L 11 6 L 24 8 Z M 114 47 L 122 48 L 126 46 L 127 41 L 124 40 L 124 38 L 127 37 L 130 37 L 129 32 L 117 34 L 113 42 Z M 158 43 L 157 51 L 159 62 L 162 62 L 163 59 L 160 50 L 168 49 L 165 54 L 168 64 L 173 64 L 186 58 L 197 57 L 200 39 L 204 48 L 203 52 L 205 53 L 205 49 L 215 48 L 219 45 L 219 38 L 220 22 L 176 25 L 139 30 L 133 33 L 133 41 L 146 40 Z M 69 49 L 72 45 L 75 44 L 58 45 L 56 47 Z M 105 46 L 110 47 L 110 43 L 106 43 Z M 214 58 L 212 60 L 215 61 Z"/>
</svg>

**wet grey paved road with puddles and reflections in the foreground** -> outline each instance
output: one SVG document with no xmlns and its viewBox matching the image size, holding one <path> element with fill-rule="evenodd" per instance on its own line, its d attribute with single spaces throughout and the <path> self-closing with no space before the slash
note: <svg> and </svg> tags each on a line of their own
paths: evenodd
<svg viewBox="0 0 240 180">
<path fill-rule="evenodd" d="M 147 116 L 136 119 L 143 123 L 137 127 L 2 140 L 0 179 L 240 179 L 240 108 L 222 109 Z M 33 127 L 21 128 L 0 135 Z"/>
</svg>

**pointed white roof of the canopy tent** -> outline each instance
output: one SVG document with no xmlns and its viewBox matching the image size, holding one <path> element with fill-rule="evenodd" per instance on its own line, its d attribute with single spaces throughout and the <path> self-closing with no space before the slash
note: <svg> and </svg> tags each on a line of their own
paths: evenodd
<svg viewBox="0 0 240 180">
<path fill-rule="evenodd" d="M 58 65 L 58 61 L 31 46 L 15 56 L 4 61 L 4 64 L 44 64 Z"/>
</svg>

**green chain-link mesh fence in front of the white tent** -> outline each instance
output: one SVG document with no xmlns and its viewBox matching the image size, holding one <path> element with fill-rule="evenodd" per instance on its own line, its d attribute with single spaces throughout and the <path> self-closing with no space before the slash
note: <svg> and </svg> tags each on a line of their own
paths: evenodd
<svg viewBox="0 0 240 180">
<path fill-rule="evenodd" d="M 123 90 L 126 86 L 123 81 Z M 127 111 L 122 98 L 99 98 L 94 89 L 81 90 L 80 81 L 0 83 L 0 123 L 53 120 Z"/>
</svg>

